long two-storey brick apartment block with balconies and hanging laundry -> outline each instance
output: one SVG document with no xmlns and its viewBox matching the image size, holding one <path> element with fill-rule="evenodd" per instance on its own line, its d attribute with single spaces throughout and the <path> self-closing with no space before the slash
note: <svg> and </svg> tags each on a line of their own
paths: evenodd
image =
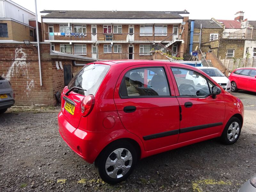
<svg viewBox="0 0 256 192">
<path fill-rule="evenodd" d="M 187 52 L 189 12 L 41 11 L 44 42 L 52 50 L 108 59 L 152 59 L 151 50 Z"/>
</svg>

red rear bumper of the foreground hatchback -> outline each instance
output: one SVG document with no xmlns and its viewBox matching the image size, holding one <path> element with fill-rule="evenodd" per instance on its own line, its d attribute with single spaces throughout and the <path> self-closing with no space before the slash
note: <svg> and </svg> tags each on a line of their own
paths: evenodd
<svg viewBox="0 0 256 192">
<path fill-rule="evenodd" d="M 58 115 L 59 132 L 68 146 L 88 163 L 93 163 L 100 151 L 105 147 L 104 140 L 109 138 L 106 132 L 89 132 L 76 129 L 63 116 L 62 112 Z M 108 140 L 107 139 L 107 140 Z"/>
</svg>

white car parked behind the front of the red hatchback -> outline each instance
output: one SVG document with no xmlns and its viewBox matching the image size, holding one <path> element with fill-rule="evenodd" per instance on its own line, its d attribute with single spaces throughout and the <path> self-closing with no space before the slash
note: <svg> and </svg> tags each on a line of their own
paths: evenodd
<svg viewBox="0 0 256 192">
<path fill-rule="evenodd" d="M 219 69 L 214 67 L 196 67 L 204 71 L 207 75 L 212 77 L 226 92 L 231 91 L 231 84 L 229 79 L 220 72 Z"/>
</svg>

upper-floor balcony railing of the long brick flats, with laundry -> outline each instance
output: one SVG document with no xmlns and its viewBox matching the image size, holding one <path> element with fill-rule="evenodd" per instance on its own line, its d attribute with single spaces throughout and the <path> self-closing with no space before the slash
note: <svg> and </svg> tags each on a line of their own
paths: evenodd
<svg viewBox="0 0 256 192">
<path fill-rule="evenodd" d="M 45 40 L 56 41 L 163 41 L 168 33 L 45 33 Z"/>
</svg>

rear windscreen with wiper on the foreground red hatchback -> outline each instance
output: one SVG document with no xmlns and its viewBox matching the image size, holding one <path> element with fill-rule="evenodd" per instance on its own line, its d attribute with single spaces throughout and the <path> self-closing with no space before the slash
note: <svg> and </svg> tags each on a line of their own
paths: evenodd
<svg viewBox="0 0 256 192">
<path fill-rule="evenodd" d="M 82 95 L 95 95 L 110 66 L 103 64 L 85 65 L 68 84 L 68 89 L 81 87 L 87 91 L 74 90 Z"/>
</svg>

